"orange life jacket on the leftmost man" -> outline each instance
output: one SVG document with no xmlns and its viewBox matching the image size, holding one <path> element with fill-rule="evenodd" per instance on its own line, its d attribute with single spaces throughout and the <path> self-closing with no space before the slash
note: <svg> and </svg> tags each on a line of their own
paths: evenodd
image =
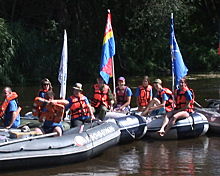
<svg viewBox="0 0 220 176">
<path fill-rule="evenodd" d="M 0 106 L 0 118 L 2 118 L 5 114 L 5 111 L 8 107 L 8 104 L 11 100 L 14 100 L 18 97 L 18 94 L 16 92 L 11 92 L 11 94 L 9 94 L 5 99 L 4 101 L 1 103 L 1 106 Z M 18 114 L 21 112 L 21 107 L 19 106 L 17 111 L 15 111 L 15 115 L 16 117 L 18 116 Z"/>
</svg>

